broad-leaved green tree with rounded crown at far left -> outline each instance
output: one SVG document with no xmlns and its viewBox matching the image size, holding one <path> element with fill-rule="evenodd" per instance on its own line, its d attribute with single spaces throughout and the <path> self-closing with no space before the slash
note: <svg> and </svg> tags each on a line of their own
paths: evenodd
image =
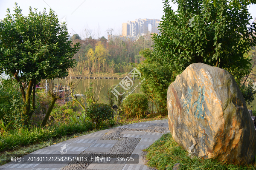
<svg viewBox="0 0 256 170">
<path fill-rule="evenodd" d="M 47 15 L 46 9 L 43 13 L 35 9 L 34 13 L 29 7 L 29 15 L 25 17 L 15 3 L 14 11 L 11 15 L 8 8 L 6 18 L 0 23 L 0 73 L 5 71 L 20 85 L 26 126 L 35 109 L 35 85 L 41 79 L 67 77 L 67 69 L 76 64 L 72 58 L 79 43 L 71 46 L 67 25 L 58 24 L 52 9 Z"/>
</svg>

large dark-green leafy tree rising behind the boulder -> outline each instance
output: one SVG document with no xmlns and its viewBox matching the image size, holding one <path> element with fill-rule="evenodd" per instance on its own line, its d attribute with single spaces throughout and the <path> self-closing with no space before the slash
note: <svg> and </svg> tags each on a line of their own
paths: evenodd
<svg viewBox="0 0 256 170">
<path fill-rule="evenodd" d="M 177 13 L 164 3 L 160 34 L 154 34 L 154 57 L 180 74 L 188 65 L 202 62 L 224 68 L 239 82 L 250 71 L 244 57 L 256 44 L 255 23 L 247 7 L 218 0 L 216 8 L 207 0 L 177 0 Z M 241 6 L 240 6 L 241 5 Z"/>
</svg>

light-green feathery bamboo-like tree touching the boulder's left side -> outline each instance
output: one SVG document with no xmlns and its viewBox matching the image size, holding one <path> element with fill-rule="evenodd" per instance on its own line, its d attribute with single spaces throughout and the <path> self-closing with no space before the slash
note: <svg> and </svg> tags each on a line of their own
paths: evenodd
<svg viewBox="0 0 256 170">
<path fill-rule="evenodd" d="M 137 69 L 141 72 L 141 78 L 145 79 L 141 83 L 141 91 L 154 103 L 157 112 L 167 114 L 167 89 L 171 82 L 175 80 L 175 74 L 161 61 L 156 61 L 150 49 L 140 51 L 140 55 L 145 58 L 142 64 L 137 64 Z"/>
</svg>

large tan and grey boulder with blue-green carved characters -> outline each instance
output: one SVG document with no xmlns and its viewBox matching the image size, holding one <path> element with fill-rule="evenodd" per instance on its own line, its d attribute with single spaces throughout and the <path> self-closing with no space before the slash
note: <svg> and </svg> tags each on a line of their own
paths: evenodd
<svg viewBox="0 0 256 170">
<path fill-rule="evenodd" d="M 172 136 L 190 154 L 234 164 L 254 159 L 253 121 L 228 71 L 189 65 L 169 86 L 167 107 Z"/>
</svg>

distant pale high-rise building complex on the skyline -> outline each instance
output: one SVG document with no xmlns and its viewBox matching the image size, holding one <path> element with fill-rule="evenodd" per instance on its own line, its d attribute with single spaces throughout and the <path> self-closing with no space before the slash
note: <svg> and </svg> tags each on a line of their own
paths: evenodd
<svg viewBox="0 0 256 170">
<path fill-rule="evenodd" d="M 136 37 L 148 33 L 148 25 L 151 24 L 151 33 L 159 34 L 158 26 L 160 20 L 157 19 L 136 19 L 135 21 L 127 21 L 122 23 L 122 35 Z"/>
</svg>

